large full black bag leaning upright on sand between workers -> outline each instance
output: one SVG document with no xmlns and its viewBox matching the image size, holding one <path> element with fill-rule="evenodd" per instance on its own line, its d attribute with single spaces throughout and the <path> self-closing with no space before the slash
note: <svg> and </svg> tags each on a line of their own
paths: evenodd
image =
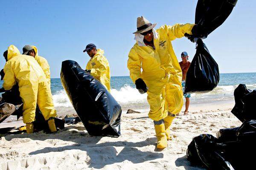
<svg viewBox="0 0 256 170">
<path fill-rule="evenodd" d="M 122 108 L 104 85 L 72 60 L 62 62 L 61 82 L 90 135 L 120 136 Z"/>
</svg>

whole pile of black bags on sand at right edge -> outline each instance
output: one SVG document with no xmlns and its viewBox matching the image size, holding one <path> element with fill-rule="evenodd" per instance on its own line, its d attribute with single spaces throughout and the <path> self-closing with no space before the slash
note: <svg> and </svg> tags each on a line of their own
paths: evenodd
<svg viewBox="0 0 256 170">
<path fill-rule="evenodd" d="M 217 138 L 202 134 L 193 138 L 187 149 L 187 159 L 212 170 L 256 169 L 256 90 L 239 85 L 232 113 L 242 123 L 240 127 L 220 129 Z M 254 108 L 254 109 L 253 109 Z"/>
</svg>

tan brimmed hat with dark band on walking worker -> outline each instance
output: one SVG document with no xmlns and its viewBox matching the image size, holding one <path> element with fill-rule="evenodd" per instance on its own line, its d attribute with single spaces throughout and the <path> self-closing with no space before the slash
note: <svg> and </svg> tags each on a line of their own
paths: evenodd
<svg viewBox="0 0 256 170">
<path fill-rule="evenodd" d="M 140 34 L 153 29 L 157 24 L 151 24 L 143 16 L 137 17 L 137 31 L 132 34 Z"/>
</svg>

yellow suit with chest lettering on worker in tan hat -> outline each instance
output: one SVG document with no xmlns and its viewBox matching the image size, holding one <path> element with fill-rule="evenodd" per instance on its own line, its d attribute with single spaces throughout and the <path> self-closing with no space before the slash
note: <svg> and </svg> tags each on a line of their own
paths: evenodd
<svg viewBox="0 0 256 170">
<path fill-rule="evenodd" d="M 164 119 L 168 111 L 180 112 L 183 105 L 181 86 L 182 71 L 172 48 L 172 40 L 191 34 L 194 24 L 161 26 L 154 38 L 154 48 L 139 46 L 138 42 L 128 55 L 130 77 L 135 82 L 142 78 L 148 86 L 149 118 L 154 121 Z M 140 69 L 143 69 L 141 73 Z"/>
</svg>

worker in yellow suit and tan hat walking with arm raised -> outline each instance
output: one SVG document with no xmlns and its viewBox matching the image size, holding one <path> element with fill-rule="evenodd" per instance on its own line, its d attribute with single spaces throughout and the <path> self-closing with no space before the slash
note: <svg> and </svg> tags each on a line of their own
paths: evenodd
<svg viewBox="0 0 256 170">
<path fill-rule="evenodd" d="M 136 88 L 148 94 L 148 117 L 154 120 L 157 148 L 163 149 L 171 138 L 172 120 L 183 105 L 182 71 L 171 41 L 192 34 L 194 24 L 165 25 L 157 30 L 155 26 L 143 16 L 137 18 L 137 42 L 128 55 L 128 69 Z"/>
</svg>

